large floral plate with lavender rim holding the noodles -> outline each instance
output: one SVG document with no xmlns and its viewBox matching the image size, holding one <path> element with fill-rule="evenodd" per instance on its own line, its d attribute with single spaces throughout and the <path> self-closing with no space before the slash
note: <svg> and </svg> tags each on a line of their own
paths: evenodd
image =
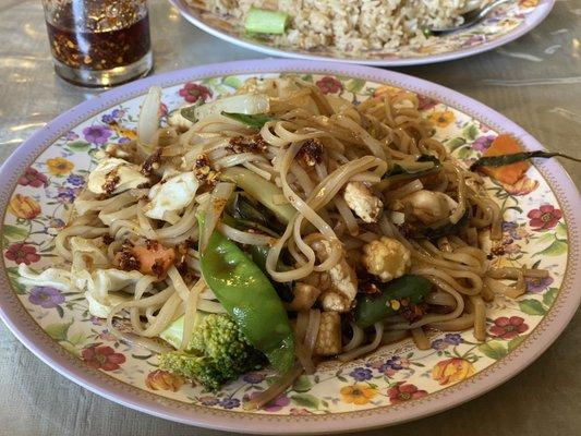
<svg viewBox="0 0 581 436">
<path fill-rule="evenodd" d="M 220 392 L 206 392 L 156 367 L 147 350 L 118 341 L 87 313 L 83 296 L 19 283 L 19 264 L 41 269 L 58 263 L 52 238 L 106 143 L 135 136 L 148 87 L 164 88 L 165 113 L 183 104 L 232 93 L 249 76 L 299 74 L 324 93 L 355 104 L 401 88 L 419 94 L 437 137 L 469 164 L 499 132 L 528 149 L 541 145 L 499 113 L 441 86 L 399 73 L 336 63 L 261 60 L 206 65 L 148 77 L 104 93 L 37 132 L 4 164 L 0 183 L 2 265 L 0 314 L 36 355 L 80 385 L 128 407 L 189 424 L 244 433 L 331 433 L 409 421 L 467 401 L 532 363 L 565 328 L 580 302 L 579 193 L 554 160 L 513 185 L 489 183 L 504 210 L 501 265 L 546 268 L 518 301 L 489 304 L 486 342 L 470 331 L 431 338 L 419 351 L 408 340 L 349 364 L 328 362 L 302 376 L 264 410 L 244 411 L 245 398 L 273 380 L 246 374 Z M 285 423 L 285 425 L 280 425 Z"/>
</svg>

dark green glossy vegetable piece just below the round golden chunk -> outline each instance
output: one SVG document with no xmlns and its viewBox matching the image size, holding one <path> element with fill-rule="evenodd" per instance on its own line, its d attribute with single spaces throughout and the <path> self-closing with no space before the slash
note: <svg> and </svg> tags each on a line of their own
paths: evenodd
<svg viewBox="0 0 581 436">
<path fill-rule="evenodd" d="M 359 294 L 355 306 L 355 323 L 361 328 L 367 328 L 375 323 L 395 315 L 399 308 L 394 308 L 390 302 L 409 299 L 411 303 L 421 303 L 432 289 L 432 282 L 421 276 L 407 275 L 388 283 L 380 284 L 380 293 Z"/>
</svg>

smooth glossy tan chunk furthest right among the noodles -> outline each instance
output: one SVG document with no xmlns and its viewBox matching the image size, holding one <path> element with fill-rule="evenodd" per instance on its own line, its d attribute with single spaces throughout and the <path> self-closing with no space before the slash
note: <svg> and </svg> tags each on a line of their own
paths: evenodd
<svg viewBox="0 0 581 436">
<path fill-rule="evenodd" d="M 403 207 L 410 207 L 415 218 L 425 226 L 449 217 L 453 209 L 458 207 L 458 203 L 448 195 L 425 190 L 416 191 L 403 197 L 400 202 Z"/>
</svg>

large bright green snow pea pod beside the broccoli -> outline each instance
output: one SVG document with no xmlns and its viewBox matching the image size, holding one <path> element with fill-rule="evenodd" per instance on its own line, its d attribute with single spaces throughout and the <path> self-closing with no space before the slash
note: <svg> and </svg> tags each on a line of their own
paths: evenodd
<svg viewBox="0 0 581 436">
<path fill-rule="evenodd" d="M 201 267 L 206 283 L 249 341 L 275 370 L 289 371 L 294 362 L 289 318 L 261 268 L 218 231 L 209 238 Z"/>
</svg>

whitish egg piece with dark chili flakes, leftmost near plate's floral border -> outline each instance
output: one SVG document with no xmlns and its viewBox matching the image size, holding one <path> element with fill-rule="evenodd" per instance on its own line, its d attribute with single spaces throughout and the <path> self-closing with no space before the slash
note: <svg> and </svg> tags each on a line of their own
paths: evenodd
<svg viewBox="0 0 581 436">
<path fill-rule="evenodd" d="M 126 160 L 110 157 L 101 160 L 88 174 L 87 187 L 94 194 L 119 194 L 148 183 L 141 167 Z"/>
</svg>

